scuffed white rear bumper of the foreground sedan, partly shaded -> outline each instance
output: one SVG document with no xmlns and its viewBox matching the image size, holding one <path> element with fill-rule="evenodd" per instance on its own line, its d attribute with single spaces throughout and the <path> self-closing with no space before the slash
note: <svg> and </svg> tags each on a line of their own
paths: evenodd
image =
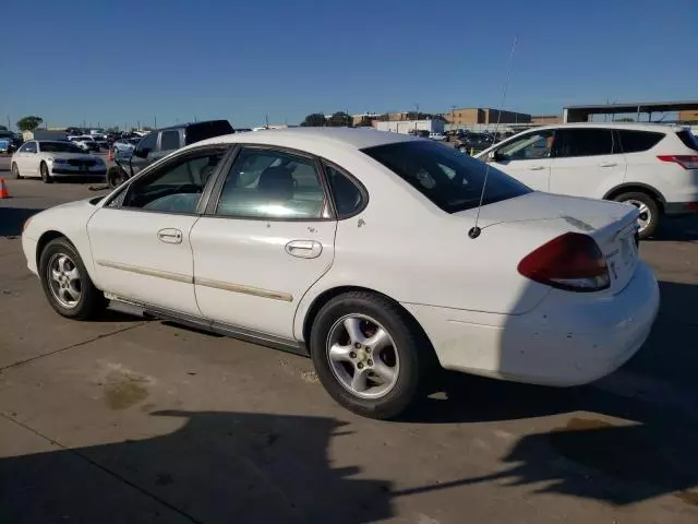
<svg viewBox="0 0 698 524">
<path fill-rule="evenodd" d="M 638 262 L 617 295 L 551 290 L 520 315 L 404 305 L 446 369 L 496 379 L 569 386 L 600 379 L 642 346 L 657 318 L 657 279 Z"/>
</svg>

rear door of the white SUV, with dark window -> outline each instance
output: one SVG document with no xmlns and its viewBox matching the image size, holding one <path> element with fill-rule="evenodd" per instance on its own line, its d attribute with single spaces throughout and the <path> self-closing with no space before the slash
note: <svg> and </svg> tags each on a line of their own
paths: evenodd
<svg viewBox="0 0 698 524">
<path fill-rule="evenodd" d="M 552 193 L 602 199 L 623 182 L 626 160 L 612 129 L 561 128 L 550 166 Z"/>
</svg>

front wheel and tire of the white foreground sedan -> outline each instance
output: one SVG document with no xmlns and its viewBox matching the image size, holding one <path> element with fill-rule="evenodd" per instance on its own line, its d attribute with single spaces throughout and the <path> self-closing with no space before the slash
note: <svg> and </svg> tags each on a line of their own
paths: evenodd
<svg viewBox="0 0 698 524">
<path fill-rule="evenodd" d="M 41 251 L 39 278 L 46 298 L 62 317 L 88 320 L 101 313 L 107 306 L 77 250 L 65 237 L 51 240 Z"/>
</svg>

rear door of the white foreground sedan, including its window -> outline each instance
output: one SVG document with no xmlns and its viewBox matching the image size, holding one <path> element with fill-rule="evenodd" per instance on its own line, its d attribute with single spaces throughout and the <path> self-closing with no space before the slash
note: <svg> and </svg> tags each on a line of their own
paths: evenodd
<svg viewBox="0 0 698 524">
<path fill-rule="evenodd" d="M 305 291 L 334 259 L 318 163 L 243 147 L 192 229 L 194 288 L 214 322 L 287 340 Z"/>
</svg>

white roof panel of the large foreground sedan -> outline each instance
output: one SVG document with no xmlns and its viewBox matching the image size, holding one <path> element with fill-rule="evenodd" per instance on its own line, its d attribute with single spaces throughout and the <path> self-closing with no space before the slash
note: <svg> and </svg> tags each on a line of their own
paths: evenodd
<svg viewBox="0 0 698 524">
<path fill-rule="evenodd" d="M 234 133 L 214 136 L 192 145 L 226 144 L 226 143 L 268 143 L 279 146 L 294 147 L 308 142 L 341 145 L 362 150 L 376 145 L 397 142 L 419 141 L 414 136 L 402 133 L 377 131 L 373 128 L 289 128 L 253 131 L 250 133 Z M 190 146 L 191 147 L 191 146 Z"/>
</svg>

